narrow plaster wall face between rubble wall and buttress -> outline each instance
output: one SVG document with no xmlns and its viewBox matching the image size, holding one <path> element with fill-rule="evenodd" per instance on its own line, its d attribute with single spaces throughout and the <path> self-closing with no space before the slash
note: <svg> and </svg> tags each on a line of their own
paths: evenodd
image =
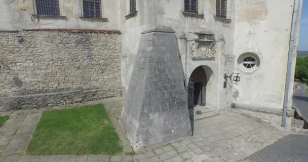
<svg viewBox="0 0 308 162">
<path fill-rule="evenodd" d="M 122 86 L 124 94 L 128 89 L 135 57 L 141 38 L 141 32 L 155 28 L 155 15 L 153 3 L 155 0 L 136 1 L 137 16 L 126 19 L 130 14 L 129 1 L 121 0 L 119 3 L 119 27 L 122 32 Z"/>
</svg>

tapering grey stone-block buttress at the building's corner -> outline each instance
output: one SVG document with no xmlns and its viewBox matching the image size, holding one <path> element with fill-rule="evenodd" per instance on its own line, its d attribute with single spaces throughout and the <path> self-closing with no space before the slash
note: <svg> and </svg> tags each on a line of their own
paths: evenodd
<svg viewBox="0 0 308 162">
<path fill-rule="evenodd" d="M 122 112 L 135 150 L 191 134 L 183 82 L 175 34 L 144 33 Z"/>
</svg>

